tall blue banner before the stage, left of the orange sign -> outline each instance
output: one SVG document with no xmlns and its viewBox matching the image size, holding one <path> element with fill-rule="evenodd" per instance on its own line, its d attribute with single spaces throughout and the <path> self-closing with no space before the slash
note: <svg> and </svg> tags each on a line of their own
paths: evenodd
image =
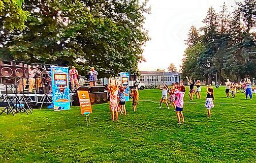
<svg viewBox="0 0 256 163">
<path fill-rule="evenodd" d="M 70 109 L 68 67 L 52 66 L 51 70 L 54 110 Z"/>
</svg>

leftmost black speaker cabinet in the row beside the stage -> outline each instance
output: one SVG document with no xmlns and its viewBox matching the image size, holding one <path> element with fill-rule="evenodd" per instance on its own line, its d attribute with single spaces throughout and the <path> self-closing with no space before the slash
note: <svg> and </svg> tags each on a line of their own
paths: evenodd
<svg viewBox="0 0 256 163">
<path fill-rule="evenodd" d="M 0 60 L 0 77 L 13 77 L 13 62 L 9 60 Z"/>
</svg>

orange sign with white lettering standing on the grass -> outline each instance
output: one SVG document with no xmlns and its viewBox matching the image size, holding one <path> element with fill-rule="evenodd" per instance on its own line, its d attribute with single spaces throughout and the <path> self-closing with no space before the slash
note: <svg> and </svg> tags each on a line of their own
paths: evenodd
<svg viewBox="0 0 256 163">
<path fill-rule="evenodd" d="M 92 106 L 88 91 L 78 90 L 77 95 L 80 103 L 81 114 L 83 115 L 85 112 L 92 113 Z"/>
</svg>

